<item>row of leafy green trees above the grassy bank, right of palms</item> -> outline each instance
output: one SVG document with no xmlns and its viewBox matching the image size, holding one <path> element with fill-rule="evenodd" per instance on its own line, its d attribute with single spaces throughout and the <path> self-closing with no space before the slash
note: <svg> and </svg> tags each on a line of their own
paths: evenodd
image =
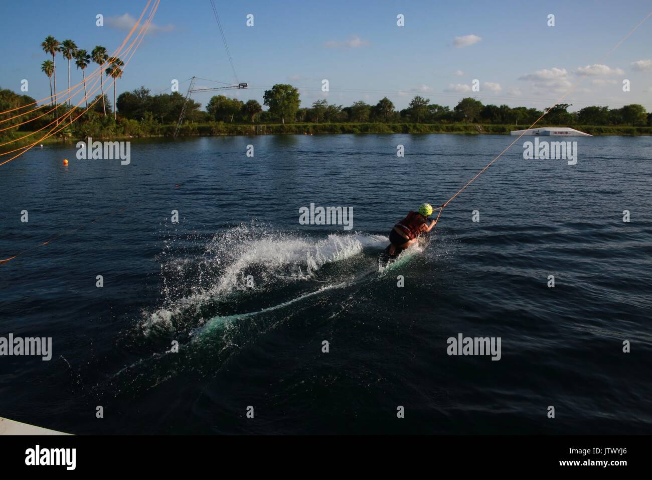
<svg viewBox="0 0 652 480">
<path fill-rule="evenodd" d="M 174 99 L 173 99 L 174 97 Z M 430 103 L 429 99 L 417 95 L 408 108 L 396 110 L 394 104 L 384 97 L 377 104 L 357 101 L 351 106 L 329 104 L 326 99 L 314 101 L 311 106 L 301 108 L 299 91 L 291 85 L 277 84 L 265 91 L 263 111 L 256 100 L 246 102 L 216 95 L 209 100 L 206 110 L 190 100 L 186 110 L 189 122 L 225 121 L 231 123 L 493 123 L 497 125 L 530 125 L 542 116 L 544 110 L 526 106 L 510 107 L 505 104 L 482 104 L 470 97 L 461 99 L 454 108 Z M 170 104 L 177 108 L 170 108 Z M 121 116 L 134 120 L 144 118 L 145 112 L 152 112 L 161 123 L 177 120 L 183 99 L 179 93 L 149 95 L 141 87 L 125 92 L 118 97 L 117 107 Z M 625 105 L 622 108 L 608 106 L 587 106 L 576 112 L 569 112 L 570 104 L 557 104 L 546 108 L 547 113 L 539 122 L 542 125 L 650 125 L 651 115 L 640 104 Z M 173 113 L 173 115 L 166 115 Z"/>
</svg>

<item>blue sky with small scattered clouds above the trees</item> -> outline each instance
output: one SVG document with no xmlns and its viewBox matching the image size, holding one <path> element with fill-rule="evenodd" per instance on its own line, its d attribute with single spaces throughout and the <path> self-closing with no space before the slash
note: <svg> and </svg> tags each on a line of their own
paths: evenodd
<svg viewBox="0 0 652 480">
<path fill-rule="evenodd" d="M 383 1 L 214 0 L 235 67 L 231 69 L 210 0 L 162 0 L 154 25 L 117 81 L 117 93 L 139 86 L 185 94 L 197 76 L 246 90 L 194 93 L 205 106 L 222 93 L 263 104 L 263 92 L 287 83 L 301 106 L 318 99 L 348 106 L 387 96 L 397 109 L 415 95 L 454 106 L 463 97 L 488 104 L 546 108 L 576 82 L 569 110 L 640 103 L 652 111 L 652 17 L 605 55 L 652 11 L 649 0 Z M 0 0 L 0 88 L 20 93 L 28 80 L 35 99 L 50 95 L 40 71 L 48 35 L 72 39 L 89 52 L 117 48 L 146 0 Z M 104 26 L 96 26 L 96 15 Z M 253 26 L 247 16 L 253 15 Z M 397 16 L 404 16 L 404 26 Z M 554 26 L 548 16 L 554 15 Z M 87 70 L 91 72 L 93 69 Z M 81 72 L 71 67 L 74 84 Z M 329 91 L 321 91 L 322 80 Z M 196 88 L 219 86 L 197 80 Z M 480 91 L 472 91 L 478 80 Z M 630 91 L 623 91 L 629 80 Z M 57 88 L 67 65 L 57 56 Z M 112 97 L 112 92 L 110 92 Z"/>
</svg>

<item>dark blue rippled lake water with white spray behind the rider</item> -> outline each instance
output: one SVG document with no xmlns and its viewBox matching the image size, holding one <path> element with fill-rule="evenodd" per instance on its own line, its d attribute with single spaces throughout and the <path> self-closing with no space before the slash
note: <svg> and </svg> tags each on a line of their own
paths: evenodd
<svg viewBox="0 0 652 480">
<path fill-rule="evenodd" d="M 76 434 L 649 433 L 652 138 L 572 138 L 572 167 L 521 141 L 378 270 L 398 219 L 513 138 L 134 141 L 130 165 L 72 144 L 0 167 L 0 257 L 36 247 L 0 264 L 0 336 L 53 342 L 50 361 L 0 357 L 0 416 Z M 310 202 L 353 207 L 353 229 L 299 225 Z M 500 337 L 501 359 L 447 355 L 459 333 Z"/>
</svg>

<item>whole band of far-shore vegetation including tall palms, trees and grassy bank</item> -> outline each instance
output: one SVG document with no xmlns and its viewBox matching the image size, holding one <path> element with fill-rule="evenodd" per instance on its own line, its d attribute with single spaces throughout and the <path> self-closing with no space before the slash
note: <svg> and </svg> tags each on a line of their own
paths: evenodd
<svg viewBox="0 0 652 480">
<path fill-rule="evenodd" d="M 151 95 L 144 86 L 125 91 L 116 97 L 115 84 L 123 77 L 123 62 L 110 57 L 106 48 L 95 46 L 89 53 L 78 48 L 73 40 L 46 37 L 40 45 L 46 60 L 41 71 L 48 78 L 50 97 L 38 102 L 0 88 L 0 144 L 3 152 L 17 146 L 52 144 L 86 140 L 123 140 L 126 138 L 153 138 L 175 136 L 181 112 L 185 111 L 179 136 L 216 135 L 315 135 L 315 134 L 428 134 L 463 133 L 469 135 L 509 135 L 512 130 L 529 127 L 546 113 L 537 127 L 571 127 L 590 135 L 652 135 L 652 113 L 640 104 L 621 108 L 586 106 L 569 112 L 571 104 L 560 103 L 545 110 L 526 106 L 510 107 L 506 104 L 483 104 L 478 99 L 466 97 L 450 108 L 432 103 L 416 95 L 408 107 L 396 110 L 394 103 L 383 97 L 376 104 L 357 101 L 350 106 L 331 104 L 319 99 L 310 106 L 301 106 L 299 89 L 289 84 L 276 84 L 263 94 L 263 106 L 254 99 L 246 102 L 224 95 L 211 97 L 201 110 L 201 104 L 186 99 L 179 91 Z M 67 67 L 68 89 L 57 93 L 57 54 L 61 54 Z M 51 58 L 51 59 L 50 59 Z M 82 99 L 72 97 L 82 93 L 70 91 L 70 63 L 74 61 L 81 70 Z M 85 69 L 95 63 L 100 77 L 113 78 L 113 103 L 104 92 L 95 95 L 87 92 Z M 61 62 L 59 62 L 61 65 Z M 66 70 L 64 70 L 64 73 Z M 79 74 L 78 74 L 79 75 Z M 239 89 L 238 93 L 245 91 Z M 66 98 L 67 97 L 67 98 Z M 77 105 L 75 105 L 76 103 Z M 85 105 L 85 108 L 82 107 Z M 115 108 L 114 108 L 115 107 Z M 71 112 L 72 110 L 72 112 Z M 76 119 L 70 123 L 62 116 Z M 3 153 L 0 152 L 0 153 Z"/>
</svg>

